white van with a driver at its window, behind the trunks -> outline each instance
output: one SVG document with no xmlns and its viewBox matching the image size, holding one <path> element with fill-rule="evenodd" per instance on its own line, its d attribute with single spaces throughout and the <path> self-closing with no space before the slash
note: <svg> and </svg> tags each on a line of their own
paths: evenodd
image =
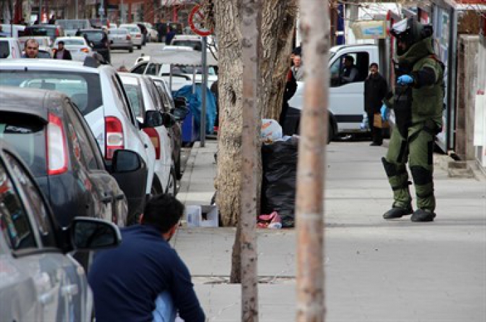
<svg viewBox="0 0 486 322">
<path fill-rule="evenodd" d="M 344 57 L 351 56 L 358 76 L 351 83 L 342 80 Z M 330 128 L 339 133 L 362 132 L 360 124 L 364 113 L 364 80 L 368 76 L 371 62 L 380 63 L 378 46 L 353 44 L 334 46 L 329 51 L 329 120 Z M 297 82 L 297 90 L 289 101 L 291 108 L 301 110 L 303 105 L 303 82 Z"/>
</svg>

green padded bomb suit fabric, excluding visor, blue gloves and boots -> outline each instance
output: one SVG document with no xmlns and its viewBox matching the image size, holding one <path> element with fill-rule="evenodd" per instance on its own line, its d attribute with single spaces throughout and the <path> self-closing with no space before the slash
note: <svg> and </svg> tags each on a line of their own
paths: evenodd
<svg viewBox="0 0 486 322">
<path fill-rule="evenodd" d="M 434 56 L 430 37 L 421 40 L 399 56 L 399 67 L 414 78 L 411 90 L 411 113 L 408 130 L 394 128 L 383 165 L 394 194 L 393 207 L 410 207 L 412 197 L 408 185 L 408 162 L 417 194 L 417 208 L 433 212 L 433 144 L 442 128 L 444 70 Z M 398 98 L 399 99 L 399 98 Z M 385 101 L 394 108 L 397 97 Z M 399 115 L 396 115 L 399 123 Z M 407 133 L 402 135 L 402 133 Z"/>
</svg>

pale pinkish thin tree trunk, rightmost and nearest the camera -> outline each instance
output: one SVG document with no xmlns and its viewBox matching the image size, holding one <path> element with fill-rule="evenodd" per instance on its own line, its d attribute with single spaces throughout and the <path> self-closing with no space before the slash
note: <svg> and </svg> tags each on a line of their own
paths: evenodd
<svg viewBox="0 0 486 322">
<path fill-rule="evenodd" d="M 328 1 L 301 0 L 305 92 L 297 168 L 297 321 L 324 321 Z"/>
</svg>

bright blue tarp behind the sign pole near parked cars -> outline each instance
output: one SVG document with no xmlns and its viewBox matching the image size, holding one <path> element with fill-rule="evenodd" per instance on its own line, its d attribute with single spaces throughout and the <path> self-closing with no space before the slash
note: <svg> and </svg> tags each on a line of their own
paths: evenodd
<svg viewBox="0 0 486 322">
<path fill-rule="evenodd" d="M 185 85 L 176 92 L 173 97 L 183 96 L 189 103 L 189 108 L 194 115 L 194 131 L 199 133 L 201 128 L 201 104 L 202 90 L 201 85 L 196 84 L 196 91 L 192 94 L 192 85 Z M 212 134 L 216 121 L 216 99 L 215 95 L 206 87 L 206 133 Z"/>
</svg>

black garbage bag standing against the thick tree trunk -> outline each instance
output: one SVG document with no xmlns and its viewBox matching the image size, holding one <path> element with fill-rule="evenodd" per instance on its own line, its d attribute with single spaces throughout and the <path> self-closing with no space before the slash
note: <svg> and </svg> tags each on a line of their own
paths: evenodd
<svg viewBox="0 0 486 322">
<path fill-rule="evenodd" d="M 277 211 L 282 227 L 294 227 L 299 139 L 262 146 L 262 214 Z"/>
</svg>

